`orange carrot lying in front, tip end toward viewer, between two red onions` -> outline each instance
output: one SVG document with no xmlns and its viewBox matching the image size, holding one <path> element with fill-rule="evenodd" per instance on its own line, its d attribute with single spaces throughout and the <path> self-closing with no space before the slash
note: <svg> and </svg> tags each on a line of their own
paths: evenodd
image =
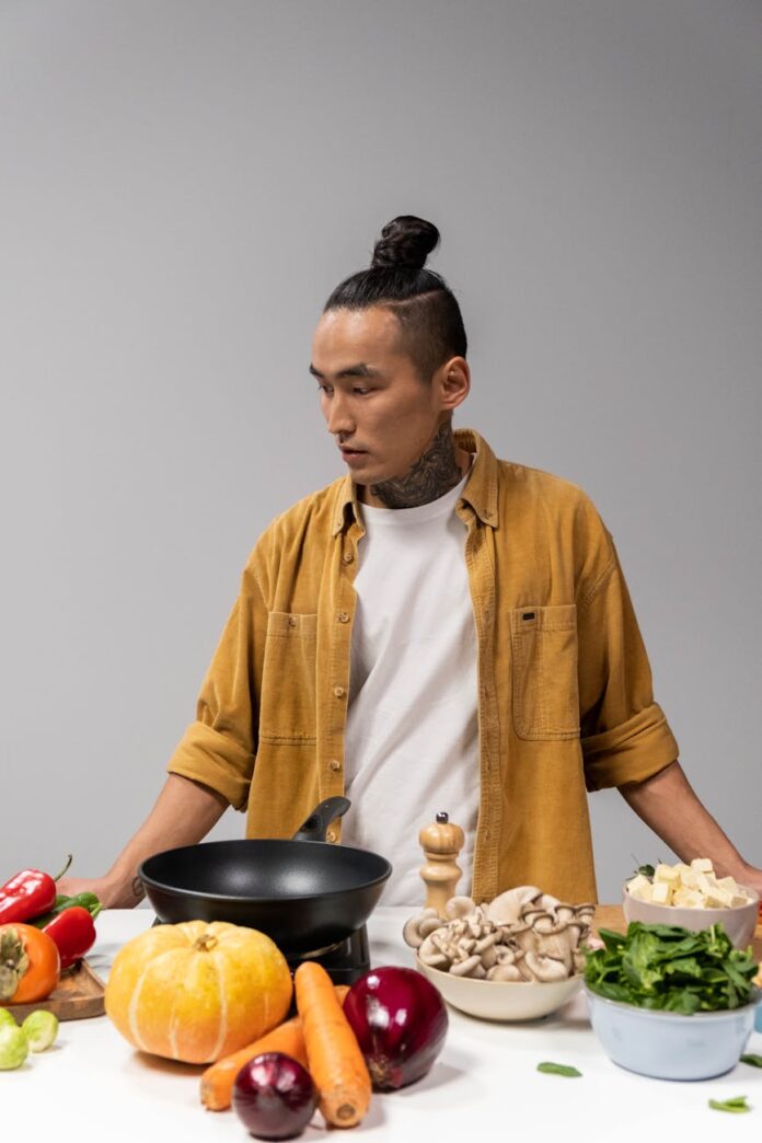
<svg viewBox="0 0 762 1143">
<path fill-rule="evenodd" d="M 330 976 L 322 965 L 305 960 L 294 986 L 319 1108 L 334 1127 L 354 1127 L 370 1105 L 370 1076 Z"/>
</svg>

